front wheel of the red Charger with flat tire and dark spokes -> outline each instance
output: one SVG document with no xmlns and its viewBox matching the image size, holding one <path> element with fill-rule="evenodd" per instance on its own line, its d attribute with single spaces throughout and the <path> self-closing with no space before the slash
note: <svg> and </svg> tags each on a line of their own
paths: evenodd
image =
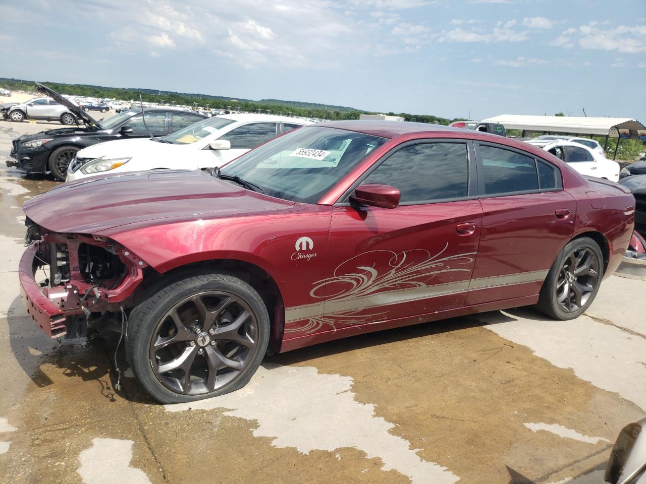
<svg viewBox="0 0 646 484">
<path fill-rule="evenodd" d="M 152 288 L 130 313 L 127 329 L 132 371 L 161 403 L 244 387 L 268 344 L 269 314 L 260 295 L 225 274 L 184 272 Z"/>
</svg>

